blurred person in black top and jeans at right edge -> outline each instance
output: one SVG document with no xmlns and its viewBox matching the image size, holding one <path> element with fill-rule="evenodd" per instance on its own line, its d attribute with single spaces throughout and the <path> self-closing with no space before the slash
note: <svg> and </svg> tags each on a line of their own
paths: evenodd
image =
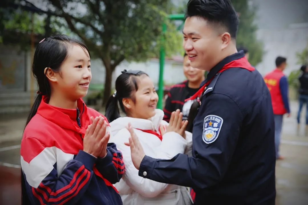
<svg viewBox="0 0 308 205">
<path fill-rule="evenodd" d="M 307 65 L 302 65 L 301 71 L 302 75 L 298 78 L 300 87 L 299 87 L 299 108 L 297 113 L 297 135 L 299 133 L 299 124 L 300 124 L 300 115 L 302 107 L 306 104 L 306 128 L 305 135 L 308 135 L 308 68 Z"/>
</svg>

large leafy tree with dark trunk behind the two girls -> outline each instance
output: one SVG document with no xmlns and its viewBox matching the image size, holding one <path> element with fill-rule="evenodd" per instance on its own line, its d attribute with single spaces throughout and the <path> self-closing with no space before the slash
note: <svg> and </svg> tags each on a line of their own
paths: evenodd
<svg viewBox="0 0 308 205">
<path fill-rule="evenodd" d="M 106 70 L 103 103 L 111 94 L 112 73 L 122 61 L 144 61 L 160 49 L 161 23 L 167 16 L 166 0 L 49 0 L 49 10 L 81 38 Z M 39 7 L 39 5 L 37 5 Z M 180 35 L 168 22 L 166 54 L 181 48 Z M 158 69 L 158 68 L 157 68 Z"/>
</svg>

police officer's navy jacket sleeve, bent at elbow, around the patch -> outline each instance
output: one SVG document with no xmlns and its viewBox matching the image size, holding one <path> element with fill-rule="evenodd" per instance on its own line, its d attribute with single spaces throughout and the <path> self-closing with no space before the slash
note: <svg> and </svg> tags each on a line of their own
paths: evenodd
<svg viewBox="0 0 308 205">
<path fill-rule="evenodd" d="M 212 143 L 203 140 L 204 121 L 219 116 L 223 122 Z M 225 175 L 239 138 L 243 113 L 228 96 L 213 93 L 206 97 L 195 118 L 193 157 L 178 154 L 171 160 L 145 156 L 139 175 L 154 181 L 204 189 L 217 184 Z"/>
</svg>

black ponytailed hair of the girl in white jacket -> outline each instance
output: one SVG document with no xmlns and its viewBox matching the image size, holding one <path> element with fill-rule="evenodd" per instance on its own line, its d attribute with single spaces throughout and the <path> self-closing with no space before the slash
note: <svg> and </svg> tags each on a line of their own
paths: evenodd
<svg viewBox="0 0 308 205">
<path fill-rule="evenodd" d="M 120 110 L 118 107 L 118 102 L 121 110 L 125 113 L 125 108 L 123 105 L 123 98 L 131 98 L 135 102 L 134 93 L 138 90 L 138 79 L 137 77 L 146 75 L 140 70 L 129 70 L 122 71 L 122 74 L 115 80 L 115 94 L 111 95 L 106 104 L 106 113 L 109 122 L 121 117 Z"/>
</svg>

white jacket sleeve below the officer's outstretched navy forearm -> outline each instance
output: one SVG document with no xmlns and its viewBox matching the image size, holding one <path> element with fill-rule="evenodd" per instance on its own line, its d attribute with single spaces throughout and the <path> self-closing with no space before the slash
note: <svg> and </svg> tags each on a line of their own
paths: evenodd
<svg viewBox="0 0 308 205">
<path fill-rule="evenodd" d="M 131 150 L 124 142 L 128 142 L 130 133 L 127 129 L 120 130 L 113 138 L 118 150 L 123 154 L 123 161 L 125 164 L 124 177 L 122 178 L 127 185 L 135 190 L 137 193 L 144 197 L 155 197 L 159 195 L 164 189 L 167 188 L 168 184 L 156 182 L 150 179 L 145 179 L 138 175 L 138 170 L 132 163 Z M 186 140 L 185 140 L 186 141 Z M 170 147 L 172 144 L 169 145 Z M 170 149 L 170 148 L 169 148 Z M 184 148 L 183 148 L 184 150 Z"/>
</svg>

